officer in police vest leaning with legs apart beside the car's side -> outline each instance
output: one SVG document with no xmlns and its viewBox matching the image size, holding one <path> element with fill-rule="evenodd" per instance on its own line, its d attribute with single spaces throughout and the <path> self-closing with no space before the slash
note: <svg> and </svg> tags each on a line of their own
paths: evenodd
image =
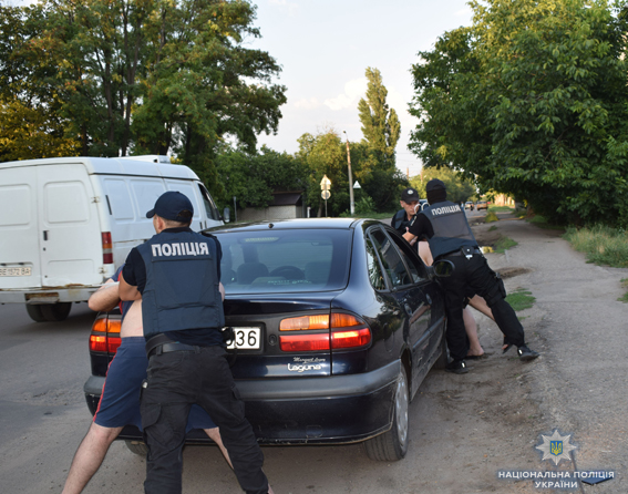
<svg viewBox="0 0 628 494">
<path fill-rule="evenodd" d="M 447 347 L 453 359 L 446 370 L 455 373 L 469 370 L 464 362 L 469 339 L 464 330 L 462 309 L 465 296 L 470 292 L 484 297 L 491 307 L 495 322 L 505 337 L 504 352 L 514 344 L 521 360 L 537 358 L 538 353 L 525 344 L 523 327 L 505 300 L 504 282 L 488 267 L 466 222 L 464 210 L 459 204 L 446 200 L 447 193 L 443 182 L 432 179 L 425 191 L 430 206 L 416 215 L 404 238 L 411 241 L 415 237 L 426 237 L 434 261 L 447 259 L 455 266 L 450 278 L 441 278 L 445 290 Z"/>
</svg>

